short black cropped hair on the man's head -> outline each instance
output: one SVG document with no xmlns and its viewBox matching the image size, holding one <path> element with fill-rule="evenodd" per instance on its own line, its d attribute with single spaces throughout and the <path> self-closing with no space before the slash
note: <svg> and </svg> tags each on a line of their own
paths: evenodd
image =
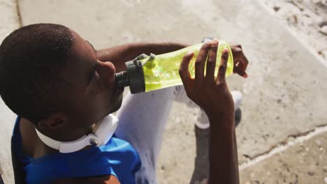
<svg viewBox="0 0 327 184">
<path fill-rule="evenodd" d="M 73 35 L 59 24 L 31 24 L 13 31 L 0 46 L 0 95 L 18 116 L 36 125 L 59 112 L 71 84 L 61 77 Z"/>
</svg>

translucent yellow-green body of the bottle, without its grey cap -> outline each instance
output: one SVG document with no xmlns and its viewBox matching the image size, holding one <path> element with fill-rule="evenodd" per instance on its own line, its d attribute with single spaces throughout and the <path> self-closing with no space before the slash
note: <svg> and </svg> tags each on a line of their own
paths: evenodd
<svg viewBox="0 0 327 184">
<path fill-rule="evenodd" d="M 198 56 L 198 51 L 200 50 L 203 43 L 196 45 L 191 45 L 185 47 L 184 49 L 177 50 L 175 52 L 168 52 L 166 54 L 159 54 L 154 57 L 152 61 L 147 61 L 149 58 L 142 59 L 142 63 L 146 63 L 143 66 L 144 78 L 145 78 L 145 92 L 154 91 L 157 89 L 163 89 L 170 86 L 177 86 L 182 84 L 182 79 L 180 79 L 179 68 L 182 58 L 188 52 L 194 52 L 194 56 L 189 63 L 189 72 L 191 77 L 195 75 L 195 60 Z M 231 52 L 231 47 L 225 42 L 220 40 L 217 50 L 217 63 L 215 69 L 215 76 L 217 77 L 217 69 L 221 61 L 221 53 L 223 49 L 227 48 L 229 51 L 226 77 L 233 73 L 233 55 Z"/>
</svg>

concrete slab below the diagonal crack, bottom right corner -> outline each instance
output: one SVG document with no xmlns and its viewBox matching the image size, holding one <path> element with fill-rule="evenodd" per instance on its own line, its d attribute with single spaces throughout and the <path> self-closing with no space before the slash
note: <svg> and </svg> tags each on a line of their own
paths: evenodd
<svg viewBox="0 0 327 184">
<path fill-rule="evenodd" d="M 327 133 L 243 169 L 240 181 L 245 184 L 327 183 Z"/>
</svg>

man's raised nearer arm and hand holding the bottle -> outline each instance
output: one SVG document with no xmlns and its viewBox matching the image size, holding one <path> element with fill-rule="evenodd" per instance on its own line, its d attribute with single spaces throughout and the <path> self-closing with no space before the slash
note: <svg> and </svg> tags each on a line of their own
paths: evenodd
<svg viewBox="0 0 327 184">
<path fill-rule="evenodd" d="M 195 61 L 194 79 L 188 70 L 194 54 L 186 54 L 180 65 L 180 77 L 187 96 L 204 109 L 210 120 L 208 183 L 239 183 L 234 105 L 225 79 L 228 50 L 224 49 L 221 54 L 216 79 L 217 47 L 218 40 L 203 44 Z M 207 66 L 204 75 L 205 63 Z"/>
</svg>

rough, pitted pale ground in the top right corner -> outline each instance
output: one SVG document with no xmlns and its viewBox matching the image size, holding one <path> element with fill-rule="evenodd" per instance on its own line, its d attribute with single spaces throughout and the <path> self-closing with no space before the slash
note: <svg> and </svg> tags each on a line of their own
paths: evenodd
<svg viewBox="0 0 327 184">
<path fill-rule="evenodd" d="M 272 14 L 296 31 L 297 37 L 327 59 L 327 1 L 326 0 L 265 0 Z"/>
</svg>

